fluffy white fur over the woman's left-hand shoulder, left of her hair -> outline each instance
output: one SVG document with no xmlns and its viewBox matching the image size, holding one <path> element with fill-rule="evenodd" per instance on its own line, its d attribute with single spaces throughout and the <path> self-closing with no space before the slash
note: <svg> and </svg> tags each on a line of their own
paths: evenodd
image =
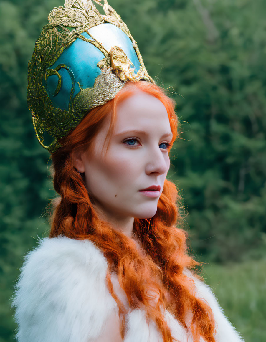
<svg viewBox="0 0 266 342">
<path fill-rule="evenodd" d="M 19 342 L 97 338 L 115 307 L 107 261 L 89 240 L 40 239 L 25 258 L 12 306 Z"/>
</svg>

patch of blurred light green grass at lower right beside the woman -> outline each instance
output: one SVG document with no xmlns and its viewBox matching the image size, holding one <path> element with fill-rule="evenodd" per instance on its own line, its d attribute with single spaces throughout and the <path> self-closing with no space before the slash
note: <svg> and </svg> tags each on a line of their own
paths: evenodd
<svg viewBox="0 0 266 342">
<path fill-rule="evenodd" d="M 204 265 L 204 273 L 205 281 L 244 340 L 265 341 L 265 259 L 227 266 Z"/>
</svg>

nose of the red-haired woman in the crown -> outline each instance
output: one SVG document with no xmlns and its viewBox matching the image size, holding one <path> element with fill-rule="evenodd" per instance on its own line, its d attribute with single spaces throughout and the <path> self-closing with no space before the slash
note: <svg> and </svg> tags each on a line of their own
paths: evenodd
<svg viewBox="0 0 266 342">
<path fill-rule="evenodd" d="M 169 170 L 169 155 L 166 151 L 162 151 L 159 146 L 147 150 L 146 158 L 146 174 L 152 172 L 163 174 Z"/>
</svg>

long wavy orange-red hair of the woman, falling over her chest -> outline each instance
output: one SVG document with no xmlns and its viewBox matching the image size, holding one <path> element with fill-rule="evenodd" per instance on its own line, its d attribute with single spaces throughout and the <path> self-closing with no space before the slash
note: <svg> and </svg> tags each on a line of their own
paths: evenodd
<svg viewBox="0 0 266 342">
<path fill-rule="evenodd" d="M 173 133 L 171 145 L 175 141 L 178 120 L 174 101 L 154 84 L 146 81 L 127 82 L 113 100 L 92 109 L 61 140 L 63 146 L 51 156 L 54 188 L 61 198 L 55 204 L 50 237 L 61 234 L 71 239 L 89 239 L 103 251 L 109 265 L 107 286 L 122 317 L 122 338 L 127 328 L 123 319 L 125 308 L 112 288 L 110 272 L 117 274 L 130 306 L 144 308 L 147 317 L 157 324 L 164 342 L 172 342 L 173 338 L 163 318 L 163 308 L 171 311 L 186 329 L 191 330 L 194 341 L 199 341 L 202 336 L 207 342 L 215 342 L 212 311 L 204 301 L 195 297 L 194 282 L 183 272 L 199 264 L 187 254 L 186 232 L 176 227 L 182 220 L 176 186 L 165 179 L 155 216 L 150 220 L 135 219 L 132 239 L 99 219 L 84 179 L 74 168 L 72 152 L 77 149 L 89 150 L 105 119 L 111 115 L 107 141 L 114 128 L 118 104 L 136 90 L 155 96 L 164 104 Z M 141 249 L 137 248 L 136 241 L 141 244 Z M 167 293 L 170 293 L 171 298 Z M 189 315 L 191 324 L 187 326 Z"/>
</svg>

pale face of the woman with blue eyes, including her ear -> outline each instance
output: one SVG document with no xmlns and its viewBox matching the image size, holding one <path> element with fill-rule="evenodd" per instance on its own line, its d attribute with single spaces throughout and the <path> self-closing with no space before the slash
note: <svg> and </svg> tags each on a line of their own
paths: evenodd
<svg viewBox="0 0 266 342">
<path fill-rule="evenodd" d="M 167 110 L 156 97 L 136 90 L 117 107 L 114 132 L 104 156 L 109 127 L 108 118 L 95 136 L 90 154 L 75 158 L 75 167 L 85 173 L 88 192 L 108 216 L 151 218 L 170 166 L 167 144 L 172 132 Z M 152 185 L 159 186 L 159 192 L 140 191 Z"/>
</svg>

